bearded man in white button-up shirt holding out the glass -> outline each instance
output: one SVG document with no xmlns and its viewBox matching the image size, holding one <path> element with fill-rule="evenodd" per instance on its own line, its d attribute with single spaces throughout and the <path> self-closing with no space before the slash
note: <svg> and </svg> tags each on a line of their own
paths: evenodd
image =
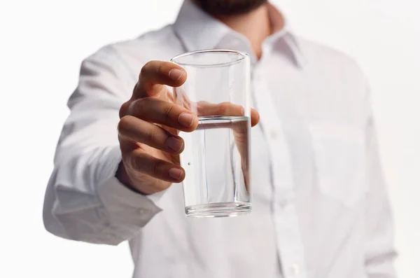
<svg viewBox="0 0 420 278">
<path fill-rule="evenodd" d="M 252 121 L 260 123 L 247 216 L 185 216 L 180 182 L 188 172 L 172 159 L 183 141 L 160 127 L 197 127 L 197 116 L 168 97 L 167 86 L 188 76 L 162 61 L 209 48 L 252 58 L 260 113 Z M 293 35 L 266 1 L 187 0 L 174 25 L 83 62 L 45 195 L 45 228 L 96 244 L 130 240 L 137 278 L 394 277 L 369 98 L 352 60 Z"/>
</svg>

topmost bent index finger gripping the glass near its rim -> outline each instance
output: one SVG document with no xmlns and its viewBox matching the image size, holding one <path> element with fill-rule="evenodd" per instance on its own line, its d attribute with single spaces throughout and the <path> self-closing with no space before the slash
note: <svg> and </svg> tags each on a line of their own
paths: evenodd
<svg viewBox="0 0 420 278">
<path fill-rule="evenodd" d="M 187 73 L 172 62 L 151 61 L 141 68 L 134 98 L 153 97 L 167 90 L 165 85 L 179 87 L 186 82 Z"/>
</svg>

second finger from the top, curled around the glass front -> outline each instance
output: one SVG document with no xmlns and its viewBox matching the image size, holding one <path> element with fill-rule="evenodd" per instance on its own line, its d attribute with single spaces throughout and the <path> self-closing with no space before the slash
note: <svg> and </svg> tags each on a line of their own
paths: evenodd
<svg viewBox="0 0 420 278">
<path fill-rule="evenodd" d="M 185 132 L 192 132 L 198 125 L 195 113 L 178 104 L 151 97 L 132 102 L 128 113 L 147 122 L 166 125 Z"/>
</svg>

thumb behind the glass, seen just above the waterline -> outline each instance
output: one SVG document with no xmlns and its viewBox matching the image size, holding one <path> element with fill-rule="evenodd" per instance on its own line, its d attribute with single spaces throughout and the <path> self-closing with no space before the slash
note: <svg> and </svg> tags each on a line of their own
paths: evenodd
<svg viewBox="0 0 420 278">
<path fill-rule="evenodd" d="M 198 116 L 244 116 L 244 107 L 231 102 L 211 104 L 209 102 L 197 103 Z M 260 121 L 260 113 L 251 109 L 251 126 L 257 125 Z"/>
</svg>

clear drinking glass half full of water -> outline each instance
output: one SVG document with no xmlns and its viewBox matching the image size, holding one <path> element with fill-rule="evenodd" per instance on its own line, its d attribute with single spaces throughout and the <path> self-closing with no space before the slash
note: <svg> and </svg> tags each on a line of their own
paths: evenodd
<svg viewBox="0 0 420 278">
<path fill-rule="evenodd" d="M 251 212 L 250 59 L 233 50 L 197 50 L 172 58 L 187 71 L 174 88 L 175 102 L 199 117 L 185 141 L 181 166 L 190 217 L 238 216 Z"/>
</svg>

